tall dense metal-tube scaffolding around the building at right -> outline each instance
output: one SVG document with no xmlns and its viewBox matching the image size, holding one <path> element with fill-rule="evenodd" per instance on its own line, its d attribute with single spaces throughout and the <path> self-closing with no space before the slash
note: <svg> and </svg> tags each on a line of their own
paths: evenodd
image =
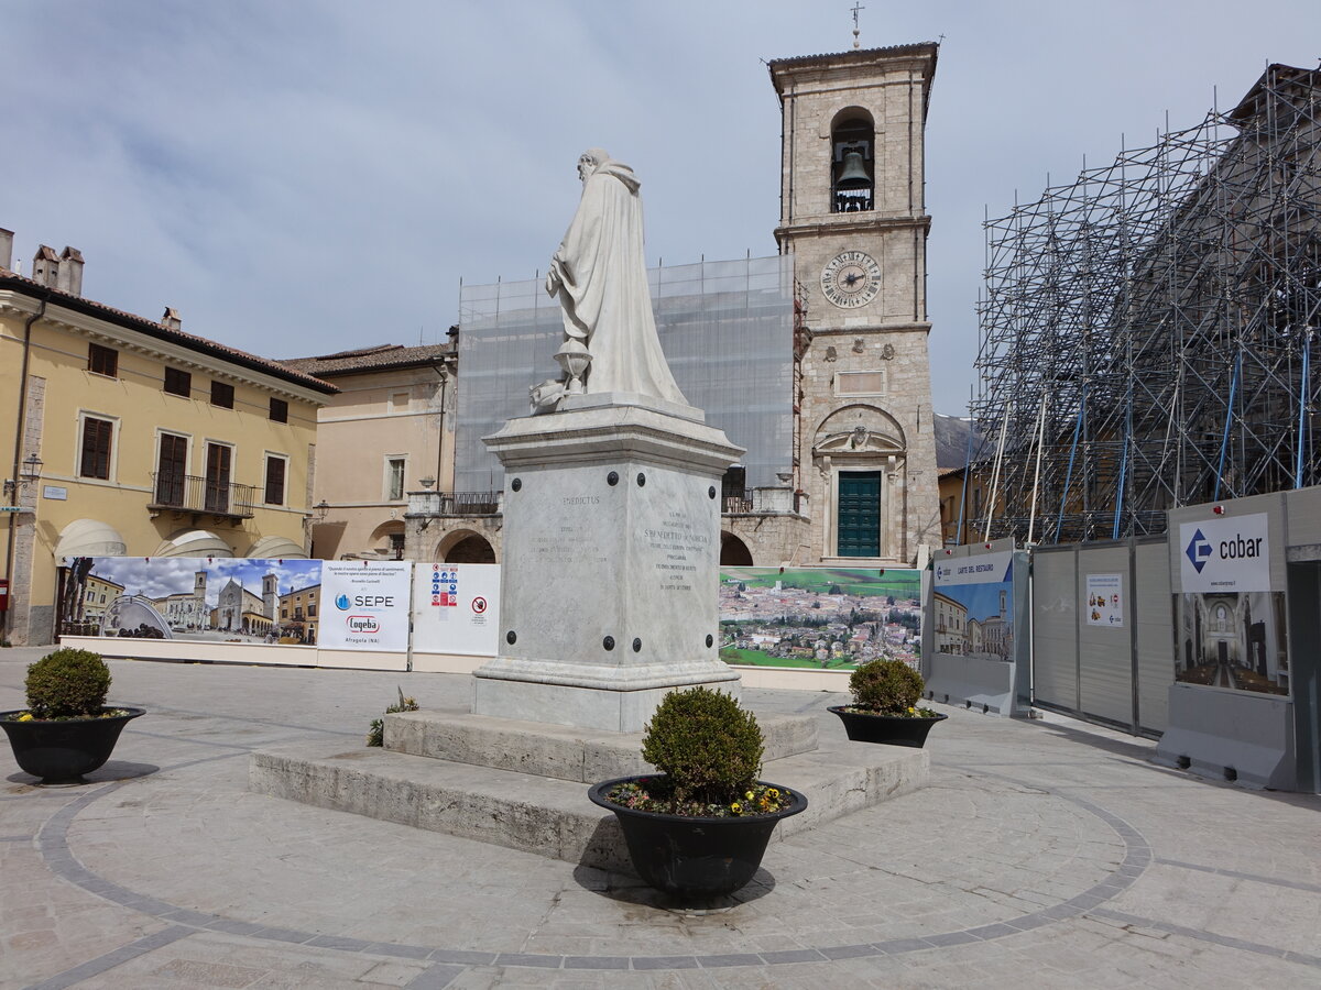
<svg viewBox="0 0 1321 990">
<path fill-rule="evenodd" d="M 1321 70 L 1272 65 L 987 220 L 975 539 L 1161 533 L 1176 506 L 1321 483 L 1318 139 Z"/>
</svg>

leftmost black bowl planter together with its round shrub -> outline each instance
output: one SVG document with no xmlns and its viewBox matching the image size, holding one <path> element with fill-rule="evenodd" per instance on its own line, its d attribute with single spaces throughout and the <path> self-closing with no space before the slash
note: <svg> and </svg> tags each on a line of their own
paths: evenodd
<svg viewBox="0 0 1321 990">
<path fill-rule="evenodd" d="M 28 708 L 0 711 L 18 767 L 42 784 L 82 784 L 140 708 L 107 706 L 110 668 L 96 653 L 57 649 L 28 667 Z"/>
</svg>

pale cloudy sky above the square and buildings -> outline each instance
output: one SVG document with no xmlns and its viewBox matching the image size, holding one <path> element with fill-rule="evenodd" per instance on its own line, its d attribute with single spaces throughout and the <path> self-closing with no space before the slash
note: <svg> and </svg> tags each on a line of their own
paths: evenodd
<svg viewBox="0 0 1321 990">
<path fill-rule="evenodd" d="M 468 284 L 544 271 L 579 153 L 643 181 L 649 261 L 775 252 L 762 59 L 852 44 L 851 0 L 4 0 L 0 227 L 90 298 L 267 356 L 444 339 Z M 943 37 L 927 124 L 933 385 L 964 412 L 982 220 L 1155 140 L 1317 0 L 864 4 L 865 48 Z"/>
</svg>

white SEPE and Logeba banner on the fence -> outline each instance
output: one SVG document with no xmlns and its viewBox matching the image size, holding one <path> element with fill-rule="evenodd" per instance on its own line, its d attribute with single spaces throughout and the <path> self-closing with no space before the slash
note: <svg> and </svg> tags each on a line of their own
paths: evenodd
<svg viewBox="0 0 1321 990">
<path fill-rule="evenodd" d="M 407 561 L 326 561 L 321 569 L 326 649 L 408 649 Z"/>
</svg>

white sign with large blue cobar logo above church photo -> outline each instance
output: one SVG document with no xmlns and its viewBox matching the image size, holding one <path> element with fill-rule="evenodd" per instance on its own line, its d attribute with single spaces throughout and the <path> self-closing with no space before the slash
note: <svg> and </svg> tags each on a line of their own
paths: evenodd
<svg viewBox="0 0 1321 990">
<path fill-rule="evenodd" d="M 1268 516 L 1182 523 L 1178 541 L 1184 591 L 1269 591 Z"/>
</svg>

